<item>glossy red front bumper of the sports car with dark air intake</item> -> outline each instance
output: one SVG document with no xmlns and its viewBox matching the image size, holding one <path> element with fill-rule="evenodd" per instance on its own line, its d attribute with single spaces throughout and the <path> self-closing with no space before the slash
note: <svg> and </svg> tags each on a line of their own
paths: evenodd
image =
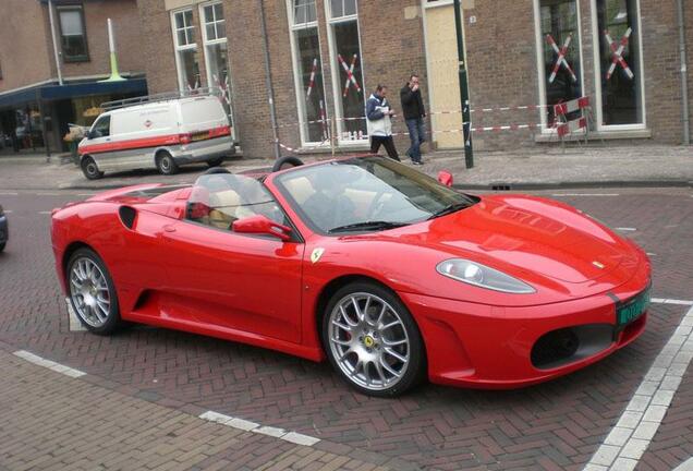
<svg viewBox="0 0 693 471">
<path fill-rule="evenodd" d="M 617 328 L 616 300 L 629 300 L 645 290 L 649 275 L 649 265 L 643 263 L 629 281 L 609 292 L 527 307 L 399 294 L 424 337 L 433 383 L 508 389 L 566 375 L 635 340 L 645 328 L 647 312 L 624 328 Z M 556 366 L 535 366 L 532 351 L 537 340 L 566 328 L 608 334 L 598 348 L 583 349 Z M 603 335 L 600 338 L 604 340 Z"/>
</svg>

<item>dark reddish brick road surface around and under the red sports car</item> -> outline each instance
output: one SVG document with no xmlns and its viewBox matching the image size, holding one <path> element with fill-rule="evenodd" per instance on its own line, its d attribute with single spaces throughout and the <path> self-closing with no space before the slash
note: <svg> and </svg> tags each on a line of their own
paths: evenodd
<svg viewBox="0 0 693 471">
<path fill-rule="evenodd" d="M 637 228 L 628 235 L 656 254 L 655 295 L 691 299 L 690 192 L 619 192 L 625 196 L 557 197 L 612 227 Z M 130 397 L 295 430 L 321 438 L 323 451 L 374 454 L 374 463 L 398 457 L 438 469 L 580 469 L 684 313 L 655 305 L 633 346 L 536 387 L 502 392 L 428 385 L 401 399 L 373 399 L 352 392 L 327 365 L 232 342 L 146 327 L 112 338 L 69 333 L 48 218 L 29 214 L 39 208 L 32 201 L 4 204 L 14 206 L 11 222 L 23 237 L 0 258 L 0 340 L 84 370 L 93 383 Z M 643 469 L 670 469 L 690 454 L 690 398 L 689 375 Z"/>
</svg>

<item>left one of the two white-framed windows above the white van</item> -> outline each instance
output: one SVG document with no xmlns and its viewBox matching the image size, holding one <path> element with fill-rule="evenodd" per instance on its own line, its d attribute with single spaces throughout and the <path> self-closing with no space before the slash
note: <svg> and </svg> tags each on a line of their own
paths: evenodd
<svg viewBox="0 0 693 471">
<path fill-rule="evenodd" d="M 195 43 L 193 11 L 173 12 L 172 28 L 179 86 L 181 90 L 199 88 L 199 55 Z"/>
</svg>

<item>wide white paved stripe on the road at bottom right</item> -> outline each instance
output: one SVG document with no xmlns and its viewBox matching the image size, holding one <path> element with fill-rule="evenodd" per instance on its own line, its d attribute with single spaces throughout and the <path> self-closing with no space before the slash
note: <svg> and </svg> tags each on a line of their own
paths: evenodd
<svg viewBox="0 0 693 471">
<path fill-rule="evenodd" d="M 693 307 L 681 319 L 635 390 L 618 423 L 584 471 L 635 469 L 667 414 L 693 359 Z"/>
</svg>

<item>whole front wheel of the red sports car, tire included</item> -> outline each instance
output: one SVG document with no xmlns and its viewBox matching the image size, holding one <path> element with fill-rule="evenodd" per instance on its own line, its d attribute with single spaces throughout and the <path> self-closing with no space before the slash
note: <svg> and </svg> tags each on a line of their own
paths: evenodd
<svg viewBox="0 0 693 471">
<path fill-rule="evenodd" d="M 324 313 L 323 343 L 340 376 L 358 391 L 394 397 L 421 382 L 424 343 L 406 306 L 373 282 L 341 288 Z"/>
</svg>

